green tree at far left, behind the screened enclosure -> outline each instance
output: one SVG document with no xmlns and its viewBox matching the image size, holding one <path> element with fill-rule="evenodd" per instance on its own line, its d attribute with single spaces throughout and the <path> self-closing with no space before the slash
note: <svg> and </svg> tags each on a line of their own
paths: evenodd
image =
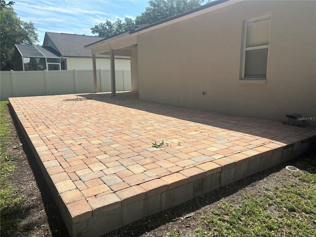
<svg viewBox="0 0 316 237">
<path fill-rule="evenodd" d="M 36 28 L 32 22 L 24 22 L 13 10 L 13 1 L 5 3 L 1 0 L 0 8 L 0 52 L 1 71 L 14 68 L 13 53 L 14 44 L 35 44 L 38 40 Z"/>
</svg>

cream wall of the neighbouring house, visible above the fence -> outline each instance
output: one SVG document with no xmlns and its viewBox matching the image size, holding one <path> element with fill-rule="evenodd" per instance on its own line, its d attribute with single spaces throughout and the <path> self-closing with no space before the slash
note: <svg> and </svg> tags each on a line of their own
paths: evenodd
<svg viewBox="0 0 316 237">
<path fill-rule="evenodd" d="M 110 59 L 109 58 L 97 58 L 96 59 L 97 69 L 110 69 Z M 72 58 L 67 57 L 67 70 L 91 70 L 92 69 L 92 58 Z M 130 60 L 129 59 L 115 59 L 115 69 L 116 70 L 130 70 Z"/>
</svg>

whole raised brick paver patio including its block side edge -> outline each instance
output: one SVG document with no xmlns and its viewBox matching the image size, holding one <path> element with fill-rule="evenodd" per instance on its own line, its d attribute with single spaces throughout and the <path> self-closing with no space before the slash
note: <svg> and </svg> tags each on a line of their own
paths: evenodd
<svg viewBox="0 0 316 237">
<path fill-rule="evenodd" d="M 133 92 L 9 101 L 71 236 L 118 229 L 294 158 L 316 138 L 316 128 L 142 102 Z"/>
</svg>

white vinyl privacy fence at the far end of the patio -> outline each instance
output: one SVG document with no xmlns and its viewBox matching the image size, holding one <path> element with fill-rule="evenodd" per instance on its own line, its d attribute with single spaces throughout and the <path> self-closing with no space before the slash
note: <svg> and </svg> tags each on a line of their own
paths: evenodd
<svg viewBox="0 0 316 237">
<path fill-rule="evenodd" d="M 131 90 L 130 70 L 116 70 L 116 91 Z M 111 71 L 97 70 L 98 92 L 111 91 Z M 0 97 L 93 93 L 92 70 L 0 71 Z"/>
</svg>

